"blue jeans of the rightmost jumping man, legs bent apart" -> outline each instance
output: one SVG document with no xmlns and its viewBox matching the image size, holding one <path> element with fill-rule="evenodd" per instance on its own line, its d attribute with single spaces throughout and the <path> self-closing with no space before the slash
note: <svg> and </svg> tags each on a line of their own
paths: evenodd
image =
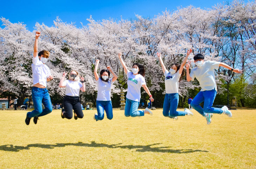
<svg viewBox="0 0 256 169">
<path fill-rule="evenodd" d="M 211 107 L 213 106 L 214 99 L 216 97 L 216 90 L 206 90 L 197 93 L 196 97 L 191 101 L 190 106 L 193 107 L 202 116 L 206 116 L 206 113 L 218 113 L 221 114 L 223 111 L 221 108 Z M 203 108 L 199 105 L 204 102 Z"/>
</svg>

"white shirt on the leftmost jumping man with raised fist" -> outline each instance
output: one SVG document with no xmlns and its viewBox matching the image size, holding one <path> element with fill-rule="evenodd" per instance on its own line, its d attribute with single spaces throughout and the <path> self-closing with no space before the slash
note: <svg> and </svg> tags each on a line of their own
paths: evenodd
<svg viewBox="0 0 256 169">
<path fill-rule="evenodd" d="M 33 73 L 33 85 L 39 83 L 46 87 L 47 78 L 51 75 L 48 66 L 43 64 L 43 62 L 39 60 L 38 56 L 33 57 L 33 63 L 31 66 Z"/>
</svg>

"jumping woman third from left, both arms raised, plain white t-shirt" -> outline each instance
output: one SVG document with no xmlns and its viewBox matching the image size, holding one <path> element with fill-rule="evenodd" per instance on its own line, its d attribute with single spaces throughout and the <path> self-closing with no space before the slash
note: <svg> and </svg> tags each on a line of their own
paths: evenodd
<svg viewBox="0 0 256 169">
<path fill-rule="evenodd" d="M 104 110 L 106 112 L 107 118 L 111 120 L 113 118 L 113 109 L 112 109 L 112 101 L 110 98 L 111 93 L 111 85 L 117 79 L 117 75 L 110 69 L 110 66 L 107 66 L 106 69 L 102 69 L 100 71 L 100 77 L 97 73 L 99 66 L 99 59 L 96 60 L 96 65 L 94 68 L 94 76 L 97 83 L 97 99 L 96 99 L 96 108 L 97 113 L 94 114 L 93 119 L 98 121 L 104 118 Z M 114 76 L 113 78 L 109 78 L 110 72 Z"/>
</svg>

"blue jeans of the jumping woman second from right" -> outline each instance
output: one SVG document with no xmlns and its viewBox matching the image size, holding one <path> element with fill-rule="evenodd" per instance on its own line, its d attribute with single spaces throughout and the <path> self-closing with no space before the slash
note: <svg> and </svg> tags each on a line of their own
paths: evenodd
<svg viewBox="0 0 256 169">
<path fill-rule="evenodd" d="M 163 101 L 163 115 L 165 117 L 173 118 L 176 116 L 184 116 L 184 111 L 177 111 L 178 93 L 166 93 Z"/>
</svg>

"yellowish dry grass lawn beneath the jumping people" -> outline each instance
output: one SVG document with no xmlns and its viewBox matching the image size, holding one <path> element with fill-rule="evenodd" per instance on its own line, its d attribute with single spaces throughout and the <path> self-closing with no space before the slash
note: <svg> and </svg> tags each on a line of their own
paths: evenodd
<svg viewBox="0 0 256 169">
<path fill-rule="evenodd" d="M 153 116 L 94 121 L 62 119 L 60 110 L 25 124 L 26 111 L 1 111 L 0 168 L 256 168 L 256 110 L 214 114 L 195 110 L 173 121 Z"/>
</svg>

